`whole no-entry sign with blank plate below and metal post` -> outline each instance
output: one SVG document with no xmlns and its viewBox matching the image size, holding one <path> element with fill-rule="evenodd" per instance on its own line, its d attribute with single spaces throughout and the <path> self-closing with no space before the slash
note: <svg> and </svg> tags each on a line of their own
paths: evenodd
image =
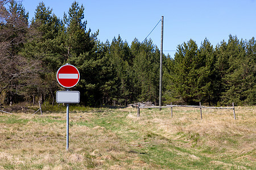
<svg viewBox="0 0 256 170">
<path fill-rule="evenodd" d="M 80 73 L 73 65 L 61 66 L 56 74 L 57 82 L 67 88 L 67 91 L 56 92 L 56 102 L 67 104 L 67 150 L 69 147 L 69 104 L 80 102 L 79 91 L 69 91 L 69 88 L 76 86 L 80 79 Z"/>
</svg>

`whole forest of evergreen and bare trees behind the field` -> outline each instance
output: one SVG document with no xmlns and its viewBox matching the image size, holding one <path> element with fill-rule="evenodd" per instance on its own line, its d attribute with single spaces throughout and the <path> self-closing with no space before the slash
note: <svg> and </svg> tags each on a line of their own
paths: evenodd
<svg viewBox="0 0 256 170">
<path fill-rule="evenodd" d="M 63 19 L 40 2 L 35 15 L 15 0 L 0 0 L 0 103 L 56 105 L 60 66 L 80 71 L 80 104 L 129 105 L 159 101 L 160 50 L 151 39 L 131 44 L 121 36 L 101 42 L 86 28 L 84 6 L 73 2 Z M 168 30 L 166 30 L 168 31 Z M 255 105 L 256 41 L 229 35 L 215 47 L 205 38 L 163 55 L 163 104 Z"/>
</svg>

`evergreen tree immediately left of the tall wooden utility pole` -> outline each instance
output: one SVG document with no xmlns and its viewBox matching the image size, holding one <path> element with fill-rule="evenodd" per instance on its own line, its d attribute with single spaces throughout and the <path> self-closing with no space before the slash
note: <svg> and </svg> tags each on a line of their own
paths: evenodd
<svg viewBox="0 0 256 170">
<path fill-rule="evenodd" d="M 134 48 L 135 46 L 134 42 Z M 159 49 L 146 40 L 141 44 L 139 53 L 134 58 L 133 69 L 137 78 L 136 87 L 139 91 L 139 101 L 154 101 L 159 96 Z"/>
</svg>

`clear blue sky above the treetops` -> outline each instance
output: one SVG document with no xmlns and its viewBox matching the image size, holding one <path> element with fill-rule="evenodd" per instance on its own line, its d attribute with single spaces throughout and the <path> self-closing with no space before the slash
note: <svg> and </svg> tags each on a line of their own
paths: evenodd
<svg viewBox="0 0 256 170">
<path fill-rule="evenodd" d="M 52 8 L 53 13 L 63 19 L 68 13 L 71 0 L 23 0 L 30 20 L 39 2 Z M 207 39 L 215 47 L 229 35 L 249 40 L 256 36 L 255 0 L 77 0 L 85 7 L 87 28 L 92 32 L 100 30 L 98 39 L 112 42 L 114 36 L 121 36 L 129 44 L 135 37 L 142 42 L 164 16 L 164 54 L 174 57 L 177 45 L 189 39 L 201 42 Z M 161 24 L 148 39 L 160 48 Z"/>
</svg>

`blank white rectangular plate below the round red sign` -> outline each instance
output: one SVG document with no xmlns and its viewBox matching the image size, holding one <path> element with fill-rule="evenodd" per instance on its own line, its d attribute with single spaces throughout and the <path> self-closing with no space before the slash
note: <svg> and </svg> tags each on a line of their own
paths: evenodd
<svg viewBox="0 0 256 170">
<path fill-rule="evenodd" d="M 56 102 L 57 103 L 79 103 L 80 92 L 79 91 L 57 91 Z"/>
</svg>

